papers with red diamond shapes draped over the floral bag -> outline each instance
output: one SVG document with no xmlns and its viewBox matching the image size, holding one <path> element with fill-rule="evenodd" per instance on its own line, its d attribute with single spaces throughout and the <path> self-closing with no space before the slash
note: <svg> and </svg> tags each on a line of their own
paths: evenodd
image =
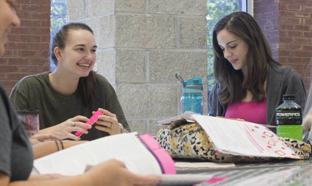
<svg viewBox="0 0 312 186">
<path fill-rule="evenodd" d="M 181 116 L 159 121 L 168 124 L 175 120 L 197 122 L 205 130 L 212 146 L 219 153 L 300 159 L 267 125 L 237 119 L 212 117 L 185 112 Z"/>
</svg>

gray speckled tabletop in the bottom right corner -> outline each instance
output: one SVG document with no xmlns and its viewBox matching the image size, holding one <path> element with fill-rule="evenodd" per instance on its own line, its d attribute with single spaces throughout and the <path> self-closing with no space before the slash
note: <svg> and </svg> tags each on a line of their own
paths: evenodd
<svg viewBox="0 0 312 186">
<path fill-rule="evenodd" d="M 312 185 L 312 159 L 275 160 L 268 162 L 235 163 L 230 168 L 177 168 L 178 174 L 210 174 L 213 177 L 227 177 L 215 184 L 202 185 Z"/>
</svg>

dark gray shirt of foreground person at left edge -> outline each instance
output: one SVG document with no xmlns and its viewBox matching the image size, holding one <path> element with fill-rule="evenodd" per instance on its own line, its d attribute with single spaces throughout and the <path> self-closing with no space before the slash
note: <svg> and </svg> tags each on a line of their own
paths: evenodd
<svg viewBox="0 0 312 186">
<path fill-rule="evenodd" d="M 0 170 L 10 181 L 26 180 L 34 159 L 32 146 L 1 85 L 0 93 Z"/>
</svg>

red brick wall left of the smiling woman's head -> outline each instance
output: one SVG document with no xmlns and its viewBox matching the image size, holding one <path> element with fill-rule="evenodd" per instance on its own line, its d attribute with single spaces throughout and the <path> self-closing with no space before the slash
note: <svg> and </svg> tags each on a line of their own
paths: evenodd
<svg viewBox="0 0 312 186">
<path fill-rule="evenodd" d="M 0 58 L 0 81 L 7 95 L 22 77 L 50 69 L 50 0 L 16 0 L 15 10 L 21 26 L 12 28 Z"/>
</svg>

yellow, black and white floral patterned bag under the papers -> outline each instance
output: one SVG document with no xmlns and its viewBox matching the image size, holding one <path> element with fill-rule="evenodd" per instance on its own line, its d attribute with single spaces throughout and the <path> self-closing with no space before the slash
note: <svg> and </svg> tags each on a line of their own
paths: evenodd
<svg viewBox="0 0 312 186">
<path fill-rule="evenodd" d="M 280 137 L 301 159 L 309 159 L 311 145 L 290 138 Z M 276 158 L 235 156 L 214 150 L 207 134 L 198 123 L 175 121 L 158 131 L 157 141 L 171 157 L 192 158 L 212 162 L 267 161 Z"/>
</svg>

